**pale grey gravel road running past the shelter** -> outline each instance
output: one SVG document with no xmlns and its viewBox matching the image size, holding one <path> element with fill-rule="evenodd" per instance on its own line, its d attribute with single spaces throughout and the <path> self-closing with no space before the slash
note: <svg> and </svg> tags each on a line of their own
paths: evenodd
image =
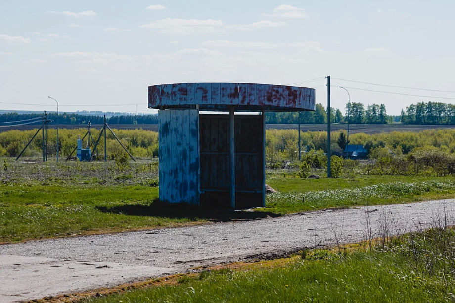
<svg viewBox="0 0 455 303">
<path fill-rule="evenodd" d="M 0 302 L 114 286 L 193 267 L 279 256 L 428 227 L 455 199 L 322 210 L 278 218 L 0 245 Z M 366 222 L 370 223 L 367 224 Z M 370 226 L 370 228 L 367 228 Z"/>
</svg>

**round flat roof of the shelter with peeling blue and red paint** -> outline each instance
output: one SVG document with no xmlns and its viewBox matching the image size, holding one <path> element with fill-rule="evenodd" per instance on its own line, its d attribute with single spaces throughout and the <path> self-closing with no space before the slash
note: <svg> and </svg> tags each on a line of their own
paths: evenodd
<svg viewBox="0 0 455 303">
<path fill-rule="evenodd" d="M 313 111 L 313 88 L 260 83 L 173 83 L 148 87 L 148 107 L 226 111 Z"/>
</svg>

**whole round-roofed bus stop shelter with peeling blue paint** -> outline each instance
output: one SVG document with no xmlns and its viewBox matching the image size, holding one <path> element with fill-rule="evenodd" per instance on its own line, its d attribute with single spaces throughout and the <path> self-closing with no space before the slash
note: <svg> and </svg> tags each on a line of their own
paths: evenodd
<svg viewBox="0 0 455 303">
<path fill-rule="evenodd" d="M 160 201 L 240 209 L 265 206 L 265 113 L 316 103 L 306 87 L 174 83 L 149 86 L 148 107 L 159 109 Z"/>
</svg>

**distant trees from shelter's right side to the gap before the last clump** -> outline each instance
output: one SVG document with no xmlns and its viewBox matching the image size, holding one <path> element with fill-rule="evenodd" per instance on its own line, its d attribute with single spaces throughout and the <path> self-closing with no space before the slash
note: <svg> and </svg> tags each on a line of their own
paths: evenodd
<svg viewBox="0 0 455 303">
<path fill-rule="evenodd" d="M 348 123 L 348 104 L 346 104 L 346 112 L 343 113 L 340 109 L 330 109 L 330 121 L 332 123 Z M 353 124 L 386 124 L 396 122 L 393 116 L 387 115 L 387 110 L 384 104 L 371 104 L 365 109 L 364 104 L 360 102 L 351 102 L 349 109 L 349 123 Z M 301 112 L 300 123 L 302 124 L 326 124 L 327 112 L 322 104 L 316 104 L 315 111 Z M 298 112 L 279 112 L 266 113 L 266 123 L 299 123 Z"/>
</svg>

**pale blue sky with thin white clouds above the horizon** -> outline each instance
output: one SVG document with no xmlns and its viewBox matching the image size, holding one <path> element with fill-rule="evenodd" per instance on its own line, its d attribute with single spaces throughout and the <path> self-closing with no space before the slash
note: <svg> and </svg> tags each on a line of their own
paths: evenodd
<svg viewBox="0 0 455 303">
<path fill-rule="evenodd" d="M 325 106 L 327 75 L 343 112 L 339 86 L 395 115 L 454 103 L 451 92 L 345 81 L 455 91 L 454 10 L 453 0 L 2 0 L 0 109 L 54 111 L 52 96 L 61 112 L 155 113 L 154 84 L 313 79 L 296 85 Z"/>
</svg>

